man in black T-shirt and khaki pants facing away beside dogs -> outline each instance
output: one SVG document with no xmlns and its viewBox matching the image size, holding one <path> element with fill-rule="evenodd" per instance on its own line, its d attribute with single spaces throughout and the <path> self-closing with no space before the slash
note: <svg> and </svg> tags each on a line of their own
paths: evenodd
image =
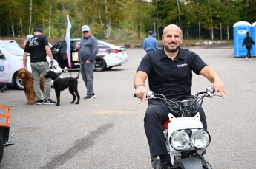
<svg viewBox="0 0 256 169">
<path fill-rule="evenodd" d="M 33 88 L 36 93 L 36 104 L 50 105 L 56 102 L 50 99 L 51 79 L 44 77 L 44 92 L 43 97 L 40 90 L 40 77 L 46 75 L 50 71 L 47 55 L 50 57 L 50 63 L 53 64 L 53 54 L 45 35 L 42 35 L 42 30 L 36 28 L 32 38 L 28 39 L 24 49 L 23 63 L 24 68 L 27 68 L 27 54 L 30 53 L 30 65 L 33 76 Z"/>
</svg>

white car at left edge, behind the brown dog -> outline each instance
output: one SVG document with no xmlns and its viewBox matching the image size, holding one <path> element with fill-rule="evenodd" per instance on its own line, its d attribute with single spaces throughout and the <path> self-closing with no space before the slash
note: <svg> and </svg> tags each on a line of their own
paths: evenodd
<svg viewBox="0 0 256 169">
<path fill-rule="evenodd" d="M 23 54 L 24 49 L 21 47 L 0 41 L 0 86 L 5 83 L 7 86 L 24 89 L 22 80 L 16 77 L 19 69 L 24 67 Z M 47 61 L 50 62 L 49 57 L 47 57 Z M 58 63 L 56 62 L 56 64 Z M 30 56 L 27 56 L 27 70 L 31 72 Z"/>
</svg>

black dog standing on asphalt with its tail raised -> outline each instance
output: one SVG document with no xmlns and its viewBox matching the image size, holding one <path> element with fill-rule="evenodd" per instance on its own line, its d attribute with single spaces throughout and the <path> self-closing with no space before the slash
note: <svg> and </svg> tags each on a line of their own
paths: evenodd
<svg viewBox="0 0 256 169">
<path fill-rule="evenodd" d="M 70 94 L 72 94 L 73 96 L 73 101 L 70 103 L 74 103 L 77 97 L 77 102 L 76 104 L 79 104 L 80 101 L 80 96 L 77 90 L 77 79 L 79 78 L 79 74 L 78 73 L 77 77 L 73 78 L 73 77 L 66 77 L 66 78 L 61 78 L 58 77 L 58 75 L 56 75 L 55 72 L 53 71 L 49 71 L 47 72 L 47 74 L 45 75 L 45 78 L 51 78 L 54 82 L 53 82 L 53 87 L 55 89 L 55 93 L 56 93 L 56 97 L 57 97 L 57 104 L 56 106 L 59 106 L 59 97 L 60 97 L 60 92 L 65 90 L 66 88 L 69 89 Z"/>
</svg>

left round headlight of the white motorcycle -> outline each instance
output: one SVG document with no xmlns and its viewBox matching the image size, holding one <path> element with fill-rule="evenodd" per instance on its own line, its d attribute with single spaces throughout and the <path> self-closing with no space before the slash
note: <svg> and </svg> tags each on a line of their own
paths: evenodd
<svg viewBox="0 0 256 169">
<path fill-rule="evenodd" d="M 171 147 L 175 150 L 183 150 L 189 144 L 189 136 L 185 131 L 174 131 L 171 134 Z"/>
</svg>

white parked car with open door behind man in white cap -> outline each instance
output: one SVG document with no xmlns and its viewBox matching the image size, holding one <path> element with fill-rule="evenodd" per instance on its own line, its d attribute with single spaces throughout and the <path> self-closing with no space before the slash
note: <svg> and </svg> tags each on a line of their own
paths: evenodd
<svg viewBox="0 0 256 169">
<path fill-rule="evenodd" d="M 71 64 L 72 68 L 79 68 L 79 58 L 76 51 L 76 44 L 80 41 L 79 38 L 70 39 L 70 49 L 71 49 Z M 53 53 L 53 58 L 58 61 L 59 49 L 62 47 L 63 41 L 58 41 L 51 48 Z M 122 46 L 116 46 L 114 44 L 109 44 L 105 41 L 98 40 L 98 54 L 96 55 L 96 63 L 94 71 L 103 71 L 105 69 L 111 69 L 115 66 L 122 66 L 122 64 L 128 62 L 128 55 L 125 48 Z"/>
</svg>

